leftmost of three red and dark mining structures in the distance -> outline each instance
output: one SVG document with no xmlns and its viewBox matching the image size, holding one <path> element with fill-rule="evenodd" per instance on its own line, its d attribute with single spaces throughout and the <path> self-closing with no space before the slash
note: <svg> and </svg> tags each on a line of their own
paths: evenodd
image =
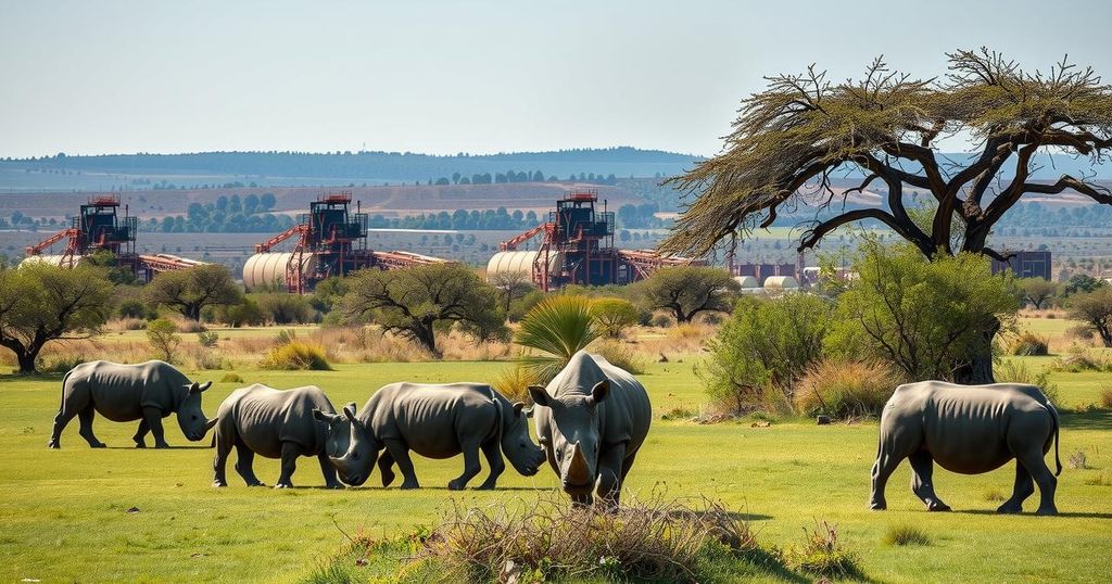
<svg viewBox="0 0 1112 584">
<path fill-rule="evenodd" d="M 99 195 L 89 198 L 73 217 L 70 226 L 57 234 L 27 247 L 27 258 L 22 264 L 46 263 L 63 268 L 72 268 L 81 258 L 97 251 L 111 251 L 117 265 L 130 268 L 143 281 L 150 281 L 156 274 L 185 269 L 203 264 L 195 259 L 169 254 L 136 254 L 136 231 L 138 220 L 128 215 L 123 206 L 123 217 L 119 216 L 120 198 L 115 195 Z M 66 241 L 61 254 L 43 254 L 56 244 Z"/>
</svg>

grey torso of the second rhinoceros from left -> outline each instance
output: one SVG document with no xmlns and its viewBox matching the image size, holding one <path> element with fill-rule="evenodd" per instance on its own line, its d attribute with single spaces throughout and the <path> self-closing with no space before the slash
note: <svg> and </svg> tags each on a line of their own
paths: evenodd
<svg viewBox="0 0 1112 584">
<path fill-rule="evenodd" d="M 336 413 L 317 387 L 275 389 L 256 384 L 228 396 L 220 405 L 220 418 L 228 416 L 234 422 L 236 433 L 252 452 L 278 458 L 282 442 L 297 443 L 312 454 L 324 448 L 326 428 L 312 418 L 314 408 Z"/>
</svg>

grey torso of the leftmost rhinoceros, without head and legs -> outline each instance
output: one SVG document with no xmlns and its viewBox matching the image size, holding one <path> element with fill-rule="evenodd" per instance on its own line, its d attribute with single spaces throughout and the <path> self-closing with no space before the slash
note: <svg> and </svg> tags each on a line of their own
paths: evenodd
<svg viewBox="0 0 1112 584">
<path fill-rule="evenodd" d="M 178 410 L 188 392 L 188 378 L 163 362 L 123 365 L 100 360 L 86 365 L 71 377 L 75 383 L 88 384 L 97 412 L 112 420 L 139 419 L 145 407 L 169 415 Z"/>
</svg>

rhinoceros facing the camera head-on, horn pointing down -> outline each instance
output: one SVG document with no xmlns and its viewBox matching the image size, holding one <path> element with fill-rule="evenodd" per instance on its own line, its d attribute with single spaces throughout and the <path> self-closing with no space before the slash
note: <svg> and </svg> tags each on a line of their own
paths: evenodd
<svg viewBox="0 0 1112 584">
<path fill-rule="evenodd" d="M 564 492 L 589 504 L 592 492 L 618 504 L 622 483 L 648 435 L 648 394 L 624 369 L 578 352 L 548 387 L 529 387 L 534 420 Z"/>
</svg>

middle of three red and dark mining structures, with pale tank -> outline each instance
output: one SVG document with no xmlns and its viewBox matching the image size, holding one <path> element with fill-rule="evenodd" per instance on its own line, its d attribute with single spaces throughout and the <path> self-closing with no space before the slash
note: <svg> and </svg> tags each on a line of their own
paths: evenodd
<svg viewBox="0 0 1112 584">
<path fill-rule="evenodd" d="M 308 215 L 297 225 L 266 242 L 256 244 L 255 255 L 244 264 L 244 287 L 250 291 L 276 286 L 290 293 L 311 290 L 317 283 L 346 276 L 357 269 L 397 269 L 440 264 L 444 259 L 408 251 L 373 251 L 367 248 L 367 214 L 350 212 L 351 191 L 321 195 L 309 202 Z M 287 251 L 276 249 L 286 241 Z"/>
</svg>

